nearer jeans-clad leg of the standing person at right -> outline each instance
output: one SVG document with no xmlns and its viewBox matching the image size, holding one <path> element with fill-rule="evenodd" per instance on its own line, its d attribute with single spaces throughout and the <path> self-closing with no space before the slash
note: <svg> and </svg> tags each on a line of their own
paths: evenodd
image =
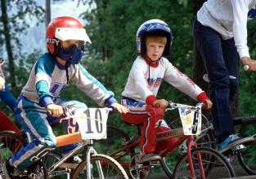
<svg viewBox="0 0 256 179">
<path fill-rule="evenodd" d="M 217 142 L 234 133 L 230 107 L 230 81 L 222 54 L 222 39 L 212 28 L 204 27 L 197 20 L 194 33 L 200 55 L 209 76 L 209 94 L 213 101 L 211 117 Z"/>
</svg>

